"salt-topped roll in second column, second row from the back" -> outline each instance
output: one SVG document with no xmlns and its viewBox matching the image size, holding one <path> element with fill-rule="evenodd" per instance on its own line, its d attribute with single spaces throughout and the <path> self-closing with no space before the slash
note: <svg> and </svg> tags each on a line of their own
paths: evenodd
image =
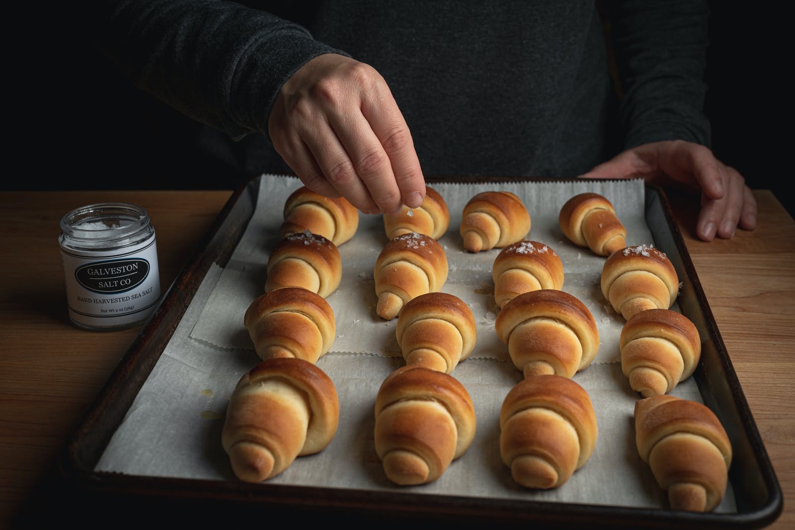
<svg viewBox="0 0 795 530">
<path fill-rule="evenodd" d="M 440 291 L 447 275 L 447 255 L 436 239 L 417 232 L 393 238 L 375 261 L 376 312 L 394 319 L 409 300 Z"/>
</svg>

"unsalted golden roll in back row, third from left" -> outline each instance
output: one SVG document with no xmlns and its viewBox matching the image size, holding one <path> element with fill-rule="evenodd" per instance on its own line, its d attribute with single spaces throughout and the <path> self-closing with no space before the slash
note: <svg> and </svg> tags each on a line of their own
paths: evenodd
<svg viewBox="0 0 795 530">
<path fill-rule="evenodd" d="M 527 208 L 510 191 L 483 191 L 463 207 L 459 232 L 469 252 L 501 249 L 521 241 L 529 231 Z"/>
</svg>

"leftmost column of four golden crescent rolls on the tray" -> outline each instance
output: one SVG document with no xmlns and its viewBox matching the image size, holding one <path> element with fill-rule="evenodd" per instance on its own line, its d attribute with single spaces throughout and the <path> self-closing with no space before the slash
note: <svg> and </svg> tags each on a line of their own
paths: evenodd
<svg viewBox="0 0 795 530">
<path fill-rule="evenodd" d="M 342 278 L 337 246 L 358 226 L 359 211 L 346 199 L 304 187 L 285 203 L 265 292 L 243 316 L 262 361 L 235 386 L 221 435 L 243 482 L 281 474 L 297 457 L 323 451 L 336 434 L 339 397 L 316 362 L 335 339 L 335 315 L 325 299 Z"/>
</svg>

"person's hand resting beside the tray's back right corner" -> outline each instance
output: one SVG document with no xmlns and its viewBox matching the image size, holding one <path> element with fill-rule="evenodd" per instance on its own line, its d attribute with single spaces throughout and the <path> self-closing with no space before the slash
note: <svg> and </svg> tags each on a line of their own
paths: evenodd
<svg viewBox="0 0 795 530">
<path fill-rule="evenodd" d="M 580 175 L 584 178 L 643 177 L 661 186 L 679 184 L 700 191 L 696 234 L 704 241 L 731 238 L 739 226 L 756 227 L 756 199 L 735 168 L 719 161 L 704 145 L 688 141 L 657 141 L 620 153 Z"/>
</svg>

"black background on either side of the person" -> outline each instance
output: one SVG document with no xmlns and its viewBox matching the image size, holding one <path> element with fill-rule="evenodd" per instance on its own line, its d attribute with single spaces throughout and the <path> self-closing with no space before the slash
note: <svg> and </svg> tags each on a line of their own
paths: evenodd
<svg viewBox="0 0 795 530">
<path fill-rule="evenodd" d="M 784 60 L 778 30 L 781 5 L 711 2 L 705 110 L 715 155 L 751 188 L 772 189 L 793 214 L 784 189 L 784 153 L 792 149 L 784 76 L 792 61 Z M 32 60 L 10 53 L 18 61 L 10 72 L 21 75 L 6 75 L 16 95 L 8 114 L 18 117 L 7 160 L 21 162 L 21 172 L 3 179 L 3 189 L 233 189 L 247 177 L 198 149 L 199 125 L 132 87 L 70 31 L 75 26 L 68 16 L 51 17 L 37 30 L 52 46 Z"/>
</svg>

